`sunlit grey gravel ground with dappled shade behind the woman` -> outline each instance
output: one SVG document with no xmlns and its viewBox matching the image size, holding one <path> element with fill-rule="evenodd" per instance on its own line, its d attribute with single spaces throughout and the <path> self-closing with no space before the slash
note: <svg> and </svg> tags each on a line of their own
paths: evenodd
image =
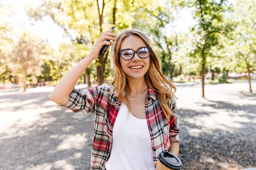
<svg viewBox="0 0 256 170">
<path fill-rule="evenodd" d="M 252 84 L 256 89 L 256 82 Z M 0 170 L 89 170 L 94 115 L 49 101 L 52 87 L 0 92 Z M 183 170 L 256 167 L 256 92 L 177 84 Z"/>
</svg>

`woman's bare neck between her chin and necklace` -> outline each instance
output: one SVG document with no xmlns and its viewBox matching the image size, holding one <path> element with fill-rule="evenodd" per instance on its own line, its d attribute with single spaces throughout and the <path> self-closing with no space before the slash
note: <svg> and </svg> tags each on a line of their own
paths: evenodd
<svg viewBox="0 0 256 170">
<path fill-rule="evenodd" d="M 129 95 L 131 96 L 138 95 L 148 88 L 145 79 L 128 80 L 128 86 L 130 89 Z"/>
</svg>

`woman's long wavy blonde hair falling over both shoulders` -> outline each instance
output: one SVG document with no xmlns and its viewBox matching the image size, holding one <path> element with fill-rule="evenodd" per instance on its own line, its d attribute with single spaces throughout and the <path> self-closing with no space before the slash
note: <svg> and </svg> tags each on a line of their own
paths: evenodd
<svg viewBox="0 0 256 170">
<path fill-rule="evenodd" d="M 170 106 L 168 105 L 168 100 L 169 99 L 173 100 L 173 97 L 176 97 L 174 95 L 176 88 L 172 84 L 171 79 L 163 75 L 160 59 L 155 53 L 155 51 L 153 50 L 153 43 L 143 31 L 140 31 L 138 29 L 126 29 L 117 35 L 115 42 L 112 44 L 112 46 L 115 49 L 114 50 L 115 75 L 114 75 L 114 80 L 112 82 L 112 87 L 113 87 L 112 92 L 113 93 L 116 92 L 117 98 L 120 100 L 120 102 L 123 102 L 127 106 L 128 110 L 130 110 L 129 109 L 130 103 L 128 102 L 128 100 L 125 99 L 125 96 L 127 96 L 130 91 L 128 86 L 128 78 L 127 78 L 127 75 L 124 73 L 123 69 L 121 68 L 121 64 L 119 61 L 120 60 L 119 53 L 118 53 L 118 51 L 120 50 L 122 41 L 130 35 L 138 36 L 139 38 L 141 38 L 141 40 L 144 41 L 144 43 L 148 47 L 151 47 L 152 49 L 151 54 L 149 56 L 150 65 L 149 65 L 148 71 L 144 76 L 145 76 L 147 85 L 156 92 L 159 104 L 164 111 L 164 115 L 169 121 L 170 115 L 175 116 L 175 113 L 171 112 Z"/>
</svg>

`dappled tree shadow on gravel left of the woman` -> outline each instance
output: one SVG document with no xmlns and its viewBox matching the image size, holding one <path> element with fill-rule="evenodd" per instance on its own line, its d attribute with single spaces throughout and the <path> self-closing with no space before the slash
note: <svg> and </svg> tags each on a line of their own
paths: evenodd
<svg viewBox="0 0 256 170">
<path fill-rule="evenodd" d="M 29 124 L 17 119 L 0 134 L 0 170 L 89 170 L 94 115 L 74 114 L 60 106 L 45 106 L 50 93 L 2 96 L 47 109 Z M 13 102 L 14 103 L 14 102 Z M 4 107 L 4 106 L 3 106 Z M 13 112 L 27 106 L 12 107 Z M 11 114 L 11 113 L 10 113 Z M 11 132 L 10 132 L 11 131 Z"/>
</svg>

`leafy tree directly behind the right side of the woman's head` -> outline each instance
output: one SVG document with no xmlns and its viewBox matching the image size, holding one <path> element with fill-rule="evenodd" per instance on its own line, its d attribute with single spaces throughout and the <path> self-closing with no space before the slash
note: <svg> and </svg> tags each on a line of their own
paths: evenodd
<svg viewBox="0 0 256 170">
<path fill-rule="evenodd" d="M 173 79 L 173 70 L 177 61 L 173 60 L 173 53 L 178 50 L 175 20 L 184 6 L 184 1 L 159 0 L 155 2 L 141 1 L 141 8 L 135 15 L 133 25 L 144 28 L 161 51 L 163 71 L 168 70 Z M 144 13 L 143 11 L 146 11 Z M 170 29 L 172 27 L 172 29 Z"/>
</svg>

